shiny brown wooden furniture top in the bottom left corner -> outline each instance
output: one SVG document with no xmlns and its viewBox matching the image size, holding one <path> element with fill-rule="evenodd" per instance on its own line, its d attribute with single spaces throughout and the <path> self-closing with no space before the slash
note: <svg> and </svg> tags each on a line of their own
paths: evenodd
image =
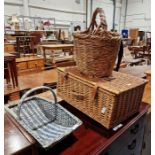
<svg viewBox="0 0 155 155">
<path fill-rule="evenodd" d="M 17 128 L 7 113 L 4 115 L 4 154 L 32 155 L 34 142 Z"/>
</svg>

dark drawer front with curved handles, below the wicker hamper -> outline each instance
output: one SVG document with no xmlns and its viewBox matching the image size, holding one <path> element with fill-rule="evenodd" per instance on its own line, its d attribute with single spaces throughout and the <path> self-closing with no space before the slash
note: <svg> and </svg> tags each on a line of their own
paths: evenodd
<svg viewBox="0 0 155 155">
<path fill-rule="evenodd" d="M 101 155 L 141 155 L 144 135 L 144 116 L 127 129 Z"/>
</svg>

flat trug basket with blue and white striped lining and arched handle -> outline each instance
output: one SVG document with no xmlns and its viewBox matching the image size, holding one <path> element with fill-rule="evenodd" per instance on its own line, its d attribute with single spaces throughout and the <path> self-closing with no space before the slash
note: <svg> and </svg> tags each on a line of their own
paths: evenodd
<svg viewBox="0 0 155 155">
<path fill-rule="evenodd" d="M 50 90 L 54 97 L 54 102 L 38 96 L 27 98 L 32 92 L 40 89 Z M 57 104 L 57 97 L 54 91 L 45 86 L 29 90 L 22 96 L 17 106 L 13 108 L 7 107 L 6 111 L 8 111 L 43 148 L 53 146 L 82 124 L 81 120 L 60 104 Z"/>
</svg>

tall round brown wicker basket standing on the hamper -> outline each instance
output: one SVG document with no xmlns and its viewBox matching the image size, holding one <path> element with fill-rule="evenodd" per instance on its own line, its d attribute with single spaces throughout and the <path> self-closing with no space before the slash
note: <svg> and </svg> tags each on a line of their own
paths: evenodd
<svg viewBox="0 0 155 155">
<path fill-rule="evenodd" d="M 96 22 L 97 14 L 100 15 L 99 25 Z M 120 48 L 120 36 L 107 31 L 104 11 L 97 8 L 89 28 L 73 35 L 75 60 L 81 73 L 95 77 L 110 76 Z"/>
</svg>

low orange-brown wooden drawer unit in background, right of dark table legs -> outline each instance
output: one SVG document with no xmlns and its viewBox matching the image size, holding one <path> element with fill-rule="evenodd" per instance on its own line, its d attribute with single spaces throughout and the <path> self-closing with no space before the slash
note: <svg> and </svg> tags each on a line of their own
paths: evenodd
<svg viewBox="0 0 155 155">
<path fill-rule="evenodd" d="M 22 57 L 16 59 L 18 74 L 44 69 L 44 59 L 37 56 Z"/>
</svg>

